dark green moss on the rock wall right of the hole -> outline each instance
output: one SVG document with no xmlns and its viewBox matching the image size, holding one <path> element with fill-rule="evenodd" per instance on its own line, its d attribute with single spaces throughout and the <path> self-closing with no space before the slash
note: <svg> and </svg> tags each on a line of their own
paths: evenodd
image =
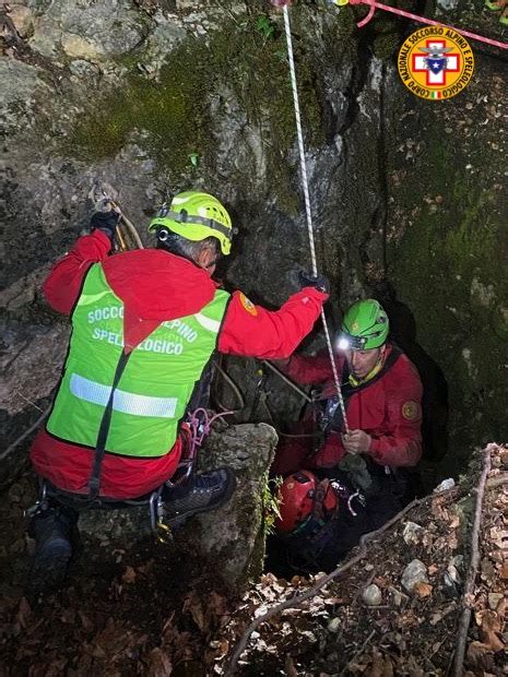
<svg viewBox="0 0 508 677">
<path fill-rule="evenodd" d="M 477 444 L 482 433 L 504 439 L 507 430 L 508 387 L 499 373 L 508 364 L 501 313 L 508 286 L 500 274 L 507 231 L 499 193 L 458 174 L 454 167 L 465 164 L 460 155 L 442 139 L 428 146 L 418 188 L 430 204 L 415 209 L 411 181 L 398 190 L 412 223 L 389 258 L 395 287 L 417 319 L 418 341 L 446 373 L 454 439 Z"/>
</svg>

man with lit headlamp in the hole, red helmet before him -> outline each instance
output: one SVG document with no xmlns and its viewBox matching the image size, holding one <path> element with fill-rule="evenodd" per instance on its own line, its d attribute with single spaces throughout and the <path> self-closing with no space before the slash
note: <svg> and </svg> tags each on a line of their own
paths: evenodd
<svg viewBox="0 0 508 677">
<path fill-rule="evenodd" d="M 273 475 L 286 478 L 279 532 L 300 563 L 307 559 L 304 569 L 333 568 L 362 533 L 381 526 L 414 497 L 422 383 L 413 364 L 387 341 L 388 333 L 388 317 L 377 300 L 357 301 L 344 316 L 335 365 L 348 432 L 328 352 L 294 355 L 283 366 L 296 382 L 321 387 L 272 466 Z M 323 480 L 331 486 L 323 488 Z"/>
</svg>

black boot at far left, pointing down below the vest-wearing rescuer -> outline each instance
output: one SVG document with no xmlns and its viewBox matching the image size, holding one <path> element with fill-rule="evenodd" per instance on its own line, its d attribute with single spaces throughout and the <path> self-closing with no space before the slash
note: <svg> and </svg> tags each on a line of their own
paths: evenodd
<svg viewBox="0 0 508 677">
<path fill-rule="evenodd" d="M 35 538 L 35 556 L 27 583 L 29 593 L 51 592 L 61 586 L 72 557 L 76 523 L 74 510 L 48 503 L 38 508 L 28 525 L 28 536 Z"/>
</svg>

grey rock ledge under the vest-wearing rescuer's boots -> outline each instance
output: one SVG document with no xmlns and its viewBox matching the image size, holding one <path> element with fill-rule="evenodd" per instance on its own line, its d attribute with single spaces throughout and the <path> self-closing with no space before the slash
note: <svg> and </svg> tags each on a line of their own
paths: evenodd
<svg viewBox="0 0 508 677">
<path fill-rule="evenodd" d="M 193 557 L 209 561 L 210 570 L 232 590 L 240 590 L 263 569 L 268 471 L 276 441 L 275 430 L 264 424 L 212 431 L 199 465 L 231 467 L 237 479 L 235 492 L 227 504 L 196 515 L 174 533 L 177 546 L 186 545 Z M 104 547 L 132 545 L 150 534 L 149 510 L 90 510 L 81 514 L 80 531 Z"/>
</svg>

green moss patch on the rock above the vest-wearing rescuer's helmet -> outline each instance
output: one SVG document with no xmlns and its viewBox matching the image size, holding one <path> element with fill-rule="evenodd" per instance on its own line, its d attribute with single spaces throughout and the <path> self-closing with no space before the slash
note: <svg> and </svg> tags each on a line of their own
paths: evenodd
<svg viewBox="0 0 508 677">
<path fill-rule="evenodd" d="M 260 31 L 260 16 L 255 11 L 244 21 L 232 20 L 208 41 L 188 37 L 168 56 L 160 82 L 137 72 L 140 55 L 122 57 L 129 74 L 103 100 L 94 98 L 93 109 L 75 124 L 68 152 L 105 159 L 135 141 L 166 173 L 188 169 L 191 153 L 210 167 L 215 142 L 208 105 L 211 95 L 224 97 L 232 91 L 247 122 L 261 132 L 269 180 L 277 186 L 283 205 L 296 209 L 294 169 L 287 163 L 296 130 L 285 38 L 280 28 Z M 304 49 L 303 40 L 295 45 L 303 124 L 312 144 L 323 140 L 322 110 Z"/>
</svg>

